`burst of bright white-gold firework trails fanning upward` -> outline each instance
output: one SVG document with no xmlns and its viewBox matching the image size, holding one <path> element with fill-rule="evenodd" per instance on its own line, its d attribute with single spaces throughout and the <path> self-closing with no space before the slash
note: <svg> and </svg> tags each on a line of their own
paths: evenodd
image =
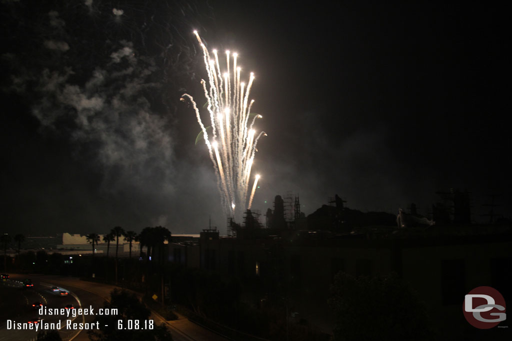
<svg viewBox="0 0 512 341">
<path fill-rule="evenodd" d="M 207 101 L 211 130 L 203 124 L 194 98 L 183 94 L 181 100 L 188 98 L 196 112 L 204 142 L 214 164 L 224 211 L 228 216 L 239 217 L 240 213 L 246 208 L 249 209 L 252 204 L 260 175 L 254 179 L 247 203 L 251 168 L 258 140 L 262 135 L 266 135 L 263 131 L 257 133 L 253 129 L 256 119 L 262 118 L 261 115 L 250 113 L 254 100 L 248 101 L 254 74 L 250 73 L 246 86 L 245 82 L 240 80 L 238 54 L 226 51 L 226 68 L 222 70 L 217 50 L 213 50 L 213 56 L 210 56 L 197 31 L 194 31 L 194 34 L 203 51 L 208 75 L 206 81 L 201 79 L 201 84 Z"/>
</svg>

